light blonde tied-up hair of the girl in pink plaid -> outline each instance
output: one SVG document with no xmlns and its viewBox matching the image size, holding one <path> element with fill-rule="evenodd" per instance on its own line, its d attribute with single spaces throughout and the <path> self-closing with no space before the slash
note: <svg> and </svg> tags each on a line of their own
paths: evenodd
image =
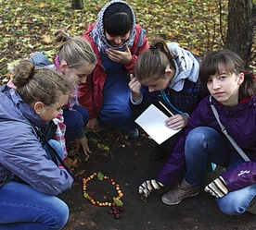
<svg viewBox="0 0 256 230">
<path fill-rule="evenodd" d="M 65 30 L 56 32 L 58 59 L 65 61 L 70 68 L 80 68 L 84 64 L 96 65 L 96 54 L 91 45 L 82 37 L 70 38 Z"/>
</svg>

